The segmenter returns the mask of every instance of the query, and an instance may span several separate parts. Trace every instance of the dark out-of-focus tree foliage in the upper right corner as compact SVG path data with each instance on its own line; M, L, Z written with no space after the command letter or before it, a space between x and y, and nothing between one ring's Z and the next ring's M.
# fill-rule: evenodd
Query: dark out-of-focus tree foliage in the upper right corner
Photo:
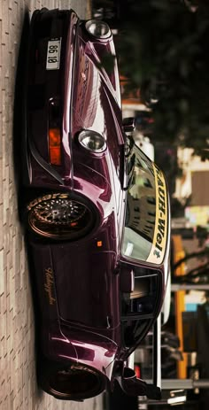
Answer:
M120 23L120 71L152 104L154 135L209 159L209 6L128 1Z

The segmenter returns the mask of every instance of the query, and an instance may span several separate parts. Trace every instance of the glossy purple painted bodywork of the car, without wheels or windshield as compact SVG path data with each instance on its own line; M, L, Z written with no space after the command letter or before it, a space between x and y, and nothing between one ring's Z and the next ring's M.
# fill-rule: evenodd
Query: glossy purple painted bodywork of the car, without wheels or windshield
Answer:
M47 71L50 38L62 39L61 59L58 70ZM128 356L120 326L121 266L130 279L133 275L131 263L120 255L127 191L123 190L126 135L118 68L116 61L111 74L97 67L104 53L114 54L112 35L107 39L90 36L73 11L43 10L33 15L29 49L27 196L31 200L44 192L69 192L88 198L97 210L95 227L78 241L27 237L41 311L40 347L49 363L76 363L97 370L105 387L122 375ZM61 119L60 166L50 165L49 159L53 100L58 102ZM82 129L103 135L107 149L96 154L81 147L77 136ZM158 267L162 286L156 316L165 290L167 257L168 250L165 263ZM146 263L140 265L146 267ZM58 397L45 381L41 385ZM69 396L65 398L85 398Z

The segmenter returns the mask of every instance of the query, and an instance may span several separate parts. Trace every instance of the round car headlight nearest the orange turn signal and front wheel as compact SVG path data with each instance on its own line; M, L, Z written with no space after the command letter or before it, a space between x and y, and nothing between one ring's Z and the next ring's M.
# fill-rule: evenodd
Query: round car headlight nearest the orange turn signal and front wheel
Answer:
M89 129L81 131L78 140L84 148L92 152L103 152L106 149L104 137L96 131Z

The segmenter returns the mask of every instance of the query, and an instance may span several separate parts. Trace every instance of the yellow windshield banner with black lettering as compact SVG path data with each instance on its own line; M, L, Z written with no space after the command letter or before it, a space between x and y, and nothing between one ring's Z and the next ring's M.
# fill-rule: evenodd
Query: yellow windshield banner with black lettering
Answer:
M148 262L160 265L163 262L167 240L167 190L164 174L153 164L156 184L156 220L151 252Z

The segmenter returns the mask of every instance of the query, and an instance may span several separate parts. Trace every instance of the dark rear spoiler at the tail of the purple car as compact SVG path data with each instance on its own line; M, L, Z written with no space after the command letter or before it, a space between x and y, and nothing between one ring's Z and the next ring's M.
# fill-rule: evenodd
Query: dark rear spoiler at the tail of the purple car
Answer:
M128 396L146 396L153 400L160 400L161 391L155 384L145 383L137 379L132 368L124 367L123 375L117 376L116 380L120 383L122 391Z

